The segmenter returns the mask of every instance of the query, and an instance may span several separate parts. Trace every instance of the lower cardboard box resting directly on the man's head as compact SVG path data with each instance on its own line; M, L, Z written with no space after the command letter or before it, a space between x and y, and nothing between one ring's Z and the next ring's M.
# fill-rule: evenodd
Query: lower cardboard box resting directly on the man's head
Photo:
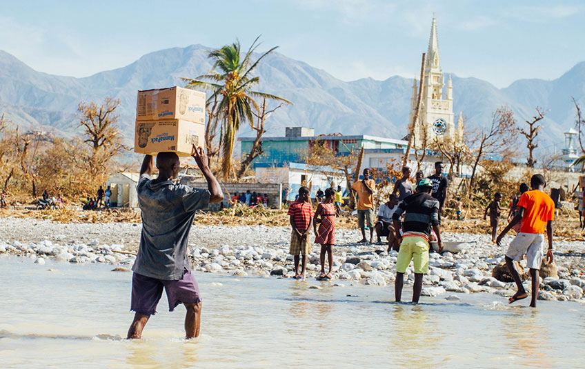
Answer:
M180 119L136 121L134 151L156 155L163 151L190 157L192 145L205 147L205 124Z

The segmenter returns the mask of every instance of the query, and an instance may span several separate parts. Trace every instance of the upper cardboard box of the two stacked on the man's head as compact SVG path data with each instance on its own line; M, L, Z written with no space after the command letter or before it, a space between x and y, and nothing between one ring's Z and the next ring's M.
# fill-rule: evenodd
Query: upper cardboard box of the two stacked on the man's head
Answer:
M177 86L138 91L137 121L168 119L182 119L204 124L205 92Z

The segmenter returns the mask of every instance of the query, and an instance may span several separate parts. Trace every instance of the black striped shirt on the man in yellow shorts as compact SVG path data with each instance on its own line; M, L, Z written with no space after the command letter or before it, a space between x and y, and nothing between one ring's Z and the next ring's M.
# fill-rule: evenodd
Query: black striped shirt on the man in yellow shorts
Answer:
M439 201L426 192L410 195L399 203L392 219L399 220L404 213L402 230L430 235L430 227L439 225Z

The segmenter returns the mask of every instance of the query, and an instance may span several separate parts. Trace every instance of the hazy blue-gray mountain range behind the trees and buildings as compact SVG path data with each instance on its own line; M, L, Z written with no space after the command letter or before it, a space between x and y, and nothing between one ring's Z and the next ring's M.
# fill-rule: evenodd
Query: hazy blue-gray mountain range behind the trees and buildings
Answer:
M63 77L38 72L0 50L0 114L12 124L43 126L58 135L79 132L79 101L117 97L119 124L126 139L133 139L137 90L184 86L181 77L194 78L210 70L210 48L192 45L146 54L134 63L90 77ZM413 61L413 74L418 70ZM394 76L341 81L325 70L273 52L259 64L257 90L277 94L292 106L277 110L268 121L268 136L284 135L286 126L315 128L317 134L370 134L401 138L406 134L413 80ZM585 108L585 62L553 81L522 79L506 88L487 81L451 74L454 112L468 117L468 126L484 126L493 110L507 105L519 125L540 106L548 110L539 135L541 148L562 147L563 132L574 125L575 97ZM250 136L241 128L241 136Z

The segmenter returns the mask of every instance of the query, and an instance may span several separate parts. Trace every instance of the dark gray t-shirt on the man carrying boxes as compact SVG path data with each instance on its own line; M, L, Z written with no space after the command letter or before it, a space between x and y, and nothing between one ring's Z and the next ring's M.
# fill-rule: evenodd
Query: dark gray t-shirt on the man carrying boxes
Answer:
M189 268L187 241L195 210L207 208L210 193L171 181L152 183L142 174L136 186L142 210L140 247L132 270L164 280L183 277Z

